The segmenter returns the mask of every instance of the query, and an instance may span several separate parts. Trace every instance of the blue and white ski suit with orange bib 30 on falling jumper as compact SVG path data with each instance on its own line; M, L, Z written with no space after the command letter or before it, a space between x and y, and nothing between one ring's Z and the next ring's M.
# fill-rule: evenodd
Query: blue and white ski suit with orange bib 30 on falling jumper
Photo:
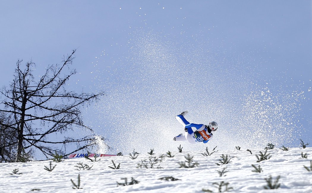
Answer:
M176 136L176 141L185 141L187 140L191 144L203 142L207 143L212 139L211 129L203 124L195 124L189 123L183 115L177 115L176 119L180 122L185 128L187 128L187 132L185 132L185 136ZM192 127L196 128L194 132Z

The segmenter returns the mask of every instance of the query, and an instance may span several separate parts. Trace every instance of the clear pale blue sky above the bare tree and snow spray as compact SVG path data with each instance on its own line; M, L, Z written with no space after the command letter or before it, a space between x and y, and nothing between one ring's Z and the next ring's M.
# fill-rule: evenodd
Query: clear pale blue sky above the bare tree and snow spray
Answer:
M2 85L8 85L13 78L17 59L23 59L24 62L32 60L40 69L48 64L61 63L63 55L77 48L73 67L79 74L75 77L76 80L72 80L69 88L74 90L83 88L91 92L101 89L108 93L112 93L116 88L124 93L129 91L127 90L129 88L137 88L137 93L130 94L128 98L140 99L135 103L120 102L127 100L127 97L120 98L124 93L119 93L119 98L115 98L120 100L119 103L113 103L109 98L93 106L95 109L93 113L96 113L96 116L90 111L86 113L85 118L91 125L96 121L93 120L94 117L103 118L100 123L96 123L96 127L101 128L98 131L101 135L105 135L107 131L117 131L118 125L127 127L127 123L119 122L112 117L129 109L129 106L134 111L141 110L142 106L155 106L157 109L159 107L157 101L155 103L153 100L145 101L150 98L149 94L154 92L155 94L161 92L164 96L156 98L165 101L162 103L164 109L168 109L169 104L179 101L177 98L183 96L184 102L180 100L173 111L163 110L166 116L174 116L179 109L193 108L189 111L196 116L190 118L194 118L193 122L197 122L204 120L204 117L199 115L201 110L198 109L207 108L211 112L223 109L220 114L216 113L213 116L213 113L208 113L207 117L213 117L221 122L227 119L223 122L227 132L237 133L236 129L231 130L232 123L229 122L248 118L238 117L229 120L235 117L236 113L230 109L224 110L227 105L218 106L217 101L223 101L223 104L240 103L238 101L241 100L255 102L257 97L261 98L261 91L264 90L266 94L272 94L272 97L279 99L278 103L281 105L291 104L285 107L288 110L294 108L290 114L295 115L289 117L296 120L290 120L285 113L283 116L270 114L271 121L276 122L275 119L285 117L286 122L296 122L300 119L300 123L295 127L298 127L304 135L296 133L294 138L301 135L301 138L309 140L312 136L310 129L312 96L309 91L312 79L311 10L311 1L2 2L0 80ZM157 52L162 53L164 57L174 58L163 61L158 58L160 54ZM170 54L167 56L168 53ZM147 60L139 59L140 57ZM161 73L163 79L159 78L162 77L158 76L159 74L154 76L153 65L157 68L155 73ZM172 80L162 82L165 77L176 76L174 68L177 68L176 71L183 70L180 77L189 78L188 83ZM189 71L189 74L185 71ZM217 76L220 80L216 78L213 82L208 79L207 82L211 81L209 84L206 82L201 85L200 80L197 80L199 75L211 78ZM178 79L180 77L176 76ZM155 86L153 82L157 81L158 85ZM167 84L172 85L170 88L162 86ZM185 91L178 91L182 87ZM238 87L237 93L234 87ZM213 96L217 96L216 98L208 91L211 89L215 89L212 93ZM207 94L207 99L192 94L202 90ZM297 93L304 91L304 94L287 95L294 90ZM254 94L253 99L242 99L251 93ZM255 96L255 93L260 94ZM187 97L188 94L190 95ZM191 101L192 105L189 105ZM194 109L196 104L193 104L193 101L197 101L198 109ZM206 104L203 101L208 102ZM209 103L218 107L214 109ZM108 108L114 104L127 108ZM251 105L250 102L248 104ZM105 108L103 107L105 105L107 109L114 111L111 115L100 113L104 111L102 108ZM250 110L255 105L245 108ZM272 105L276 103L272 102L261 108L268 106L270 108L263 111L276 110L277 106ZM238 107L234 105L233 108ZM259 106L255 108L261 109ZM227 112L232 116L224 116ZM105 113L108 114L109 111ZM144 116L137 116L134 114L133 121L146 119ZM162 119L167 120L166 116ZM258 117L257 120L261 122L262 119L263 117ZM165 123L170 124L170 119L168 120ZM145 123L137 121L137 123L153 124L153 121ZM284 126L285 122L281 125ZM138 133L145 128L138 127L136 128ZM176 128L178 125L173 127ZM292 128L291 131L293 129L296 128ZM176 132L178 129L172 135ZM287 131L278 130L278 132ZM134 132L132 135L137 137L139 134Z

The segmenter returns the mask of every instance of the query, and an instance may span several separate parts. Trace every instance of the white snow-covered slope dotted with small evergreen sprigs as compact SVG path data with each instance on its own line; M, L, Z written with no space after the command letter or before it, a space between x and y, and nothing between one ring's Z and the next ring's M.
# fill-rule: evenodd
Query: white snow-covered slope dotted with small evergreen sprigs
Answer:
M181 145L183 147L183 145ZM147 152L141 153L137 159L131 159L128 154L124 156L114 156L101 158L98 162L91 162L85 158L65 159L61 163L52 162L56 167L51 172L44 169L49 167L50 161L38 161L27 163L0 163L0 190L1 192L203 192L202 189L209 189L218 192L217 185L220 182L229 183L230 192L312 192L312 172L307 171L304 165L310 168L312 159L312 148L300 149L289 148L283 151L278 148L269 149L267 154L272 156L268 160L257 163L256 155L264 149L250 149L252 154L246 149L218 151L210 155L202 155L206 152L182 152L178 149L171 154L174 157L165 157L155 168L137 168L141 160L149 160ZM209 153L212 149L208 149ZM307 154L308 158L302 158L301 152ZM103 152L101 152L103 153ZM157 149L154 155L158 158L160 155L168 155L166 152L159 153ZM185 162L185 156L193 156L193 163L199 163L194 168L179 168L179 162ZM222 154L231 156L230 163L224 165L219 160ZM119 169L112 169L120 163ZM90 170L77 170L79 163L93 166ZM263 170L261 173L252 172L255 170L251 166L260 165ZM150 166L148 164L148 166ZM160 166L158 169L156 167ZM220 177L218 171L227 167L226 172ZM19 169L19 173L13 174L14 169ZM73 182L77 184L78 174L80 174L80 188L73 189ZM265 178L272 176L272 183L280 176L280 188L275 190L266 190ZM139 181L138 184L117 186L117 182L124 183L127 178L131 182L131 177ZM173 177L179 180L165 181L162 177ZM222 191L225 186L222 187Z

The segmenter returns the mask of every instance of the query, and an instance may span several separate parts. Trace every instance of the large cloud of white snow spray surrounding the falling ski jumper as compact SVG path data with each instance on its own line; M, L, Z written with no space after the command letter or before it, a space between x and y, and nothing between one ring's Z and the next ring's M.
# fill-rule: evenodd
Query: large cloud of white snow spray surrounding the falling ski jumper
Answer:
M158 146L159 151L168 150L171 144L167 141L172 142L172 136L183 129L174 119L175 113L179 113L181 107L194 109L190 113L190 120L204 123L207 119L214 119L220 122L224 131L235 133L235 139L227 132L216 133L215 138L222 140L215 140L213 145L222 146L223 149L232 148L233 143L241 141L244 141L245 147L261 147L268 142L285 145L291 138L296 137L294 128L299 127L302 131L300 123L295 123L291 128L288 126L294 120L296 122L299 120L298 113L292 113L300 111L300 105L293 103L299 96L290 95L282 87L276 87L270 81L265 81L263 76L261 82L254 80L252 74L246 76L248 71L245 71L244 65L229 70L228 64L232 64L230 61L232 58L213 54L213 50L202 49L196 43L190 46L183 42L183 39L168 42L167 36L170 37L170 34L145 32L135 34L134 39L127 41L128 44L132 44L125 61L125 65L129 66L124 70L113 70L112 77L107 77L109 81L105 83L108 83L111 90L110 98L100 101L99 105L95 106L95 112L96 119L103 120L99 123L110 125L110 130L113 131L109 132L113 133L110 136L112 148L120 148L118 140L122 140L124 148L122 151L131 151L127 148L137 147L137 141L131 139L139 139L142 131L149 130L152 132L146 134L147 137L155 140L149 143L140 141L140 150L148 151L149 145ZM193 38L197 37L198 35L194 35ZM117 56L114 56L114 59L116 62L117 59L122 61ZM196 68L193 68L194 66ZM218 71L219 76L210 79L211 70ZM204 76L201 78L188 76L190 73L198 72L202 72ZM236 77L236 80L241 81L233 81L230 77ZM110 81L114 78L117 84ZM287 87L286 80L285 83L284 87ZM99 86L104 85L107 86L107 84ZM192 92L185 95L188 88L192 89L194 94ZM207 98L195 94L198 90L216 90L216 92ZM159 94L160 92L162 94ZM162 120L161 123L159 119ZM167 131L163 125L172 125L172 131ZM119 131L120 126L127 131L127 135L115 132ZM118 137L114 136L114 133L118 134ZM115 138L118 140L114 140ZM163 143L164 141L166 143ZM192 148L198 147L188 146L188 149Z

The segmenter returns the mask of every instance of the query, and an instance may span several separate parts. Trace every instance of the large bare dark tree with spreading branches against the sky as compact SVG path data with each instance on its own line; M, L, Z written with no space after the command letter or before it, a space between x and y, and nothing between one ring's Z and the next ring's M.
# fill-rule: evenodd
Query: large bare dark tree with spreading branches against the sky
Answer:
M72 152L58 153L69 155L80 149L95 144L94 136L68 137L63 140L51 140L52 134L77 131L77 129L91 128L85 126L82 120L82 107L103 96L104 93L77 94L66 88L66 82L76 74L70 65L74 59L76 50L64 57L62 65L49 65L43 76L36 80L32 73L35 63L27 62L22 69L22 61L17 62L14 80L9 87L1 90L2 106L0 112L12 117L11 122L2 122L3 128L16 132L15 141L16 161L22 158L22 152L26 149L39 149L47 158L57 150L56 144L63 147L72 144L76 149Z

